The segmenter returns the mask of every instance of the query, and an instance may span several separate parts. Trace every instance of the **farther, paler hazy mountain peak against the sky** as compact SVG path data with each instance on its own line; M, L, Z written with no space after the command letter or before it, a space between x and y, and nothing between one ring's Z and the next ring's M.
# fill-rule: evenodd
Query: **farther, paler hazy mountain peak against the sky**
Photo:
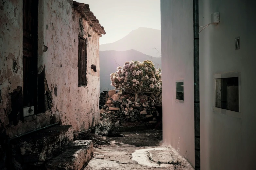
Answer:
M134 49L153 57L159 57L157 50L154 48L161 52L161 30L144 27L131 31L118 41L100 45L101 51L126 51Z

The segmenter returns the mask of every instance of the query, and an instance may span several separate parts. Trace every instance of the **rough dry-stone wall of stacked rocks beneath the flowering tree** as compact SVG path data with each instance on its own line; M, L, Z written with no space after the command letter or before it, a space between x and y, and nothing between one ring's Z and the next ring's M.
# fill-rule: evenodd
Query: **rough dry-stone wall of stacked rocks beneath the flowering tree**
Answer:
M153 94L138 95L137 101L134 101L135 97L131 94L116 93L115 90L110 90L106 97L107 95L107 102L100 113L106 113L106 117L112 122L157 122L159 114L154 107L156 96Z

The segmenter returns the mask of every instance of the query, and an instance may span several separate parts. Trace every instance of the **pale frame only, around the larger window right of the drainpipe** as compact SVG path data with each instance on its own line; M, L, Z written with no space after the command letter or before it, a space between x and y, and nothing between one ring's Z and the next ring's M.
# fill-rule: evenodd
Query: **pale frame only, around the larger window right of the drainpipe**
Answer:
M238 112L215 107L216 106L216 81L215 81L215 79L232 78L232 77L238 77L238 107L239 107ZM235 117L235 118L241 118L241 74L240 74L240 72L227 72L227 73L213 74L213 112L224 114L224 115Z

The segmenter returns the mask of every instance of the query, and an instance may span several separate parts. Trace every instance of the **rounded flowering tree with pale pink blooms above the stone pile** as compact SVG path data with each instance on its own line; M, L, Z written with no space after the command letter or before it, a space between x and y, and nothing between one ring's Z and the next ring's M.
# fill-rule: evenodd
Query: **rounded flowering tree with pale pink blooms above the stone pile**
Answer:
M152 61L125 62L116 69L118 71L110 75L111 86L135 94L135 101L140 93L160 94L162 91L161 69L156 69Z

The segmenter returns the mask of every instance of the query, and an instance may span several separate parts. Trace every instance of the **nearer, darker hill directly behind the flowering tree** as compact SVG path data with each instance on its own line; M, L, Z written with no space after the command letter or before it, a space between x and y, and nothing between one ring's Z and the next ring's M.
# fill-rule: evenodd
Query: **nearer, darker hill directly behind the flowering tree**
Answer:
M137 50L100 51L100 92L113 89L110 85L110 74L117 71L116 67L123 66L126 61L131 60L143 62L149 60L149 57ZM152 61L159 64L158 68L162 68L161 57L152 57ZM157 67L156 64L155 66Z

